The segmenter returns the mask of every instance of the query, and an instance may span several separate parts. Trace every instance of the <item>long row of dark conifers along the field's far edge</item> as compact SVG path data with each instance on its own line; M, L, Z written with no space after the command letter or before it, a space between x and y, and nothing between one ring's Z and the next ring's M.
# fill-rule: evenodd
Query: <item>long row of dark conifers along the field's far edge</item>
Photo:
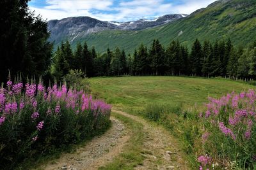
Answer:
M164 48L154 39L150 48L141 44L132 54L116 47L105 53L88 48L86 42L77 44L72 52L70 43L61 43L54 54L52 74L59 80L70 69L93 76L228 76L230 78L256 78L256 42L249 48L235 47L232 41L200 42L195 40L191 49L179 41Z

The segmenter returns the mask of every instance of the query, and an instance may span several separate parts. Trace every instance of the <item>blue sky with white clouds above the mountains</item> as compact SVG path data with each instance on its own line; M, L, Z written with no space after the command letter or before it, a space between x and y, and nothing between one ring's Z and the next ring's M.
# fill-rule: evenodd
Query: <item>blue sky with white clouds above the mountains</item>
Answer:
M216 0L31 0L29 8L46 20L88 16L126 22L166 14L190 14Z

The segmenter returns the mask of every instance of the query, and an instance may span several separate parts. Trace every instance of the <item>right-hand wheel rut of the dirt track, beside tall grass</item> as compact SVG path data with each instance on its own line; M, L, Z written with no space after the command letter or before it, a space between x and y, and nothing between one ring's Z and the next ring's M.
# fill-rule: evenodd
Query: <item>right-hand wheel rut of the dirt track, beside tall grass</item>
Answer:
M145 160L143 165L134 169L190 169L188 162L184 159L184 155L179 149L179 144L166 129L150 124L143 118L123 111L112 111L143 125L146 139L141 154L143 154Z

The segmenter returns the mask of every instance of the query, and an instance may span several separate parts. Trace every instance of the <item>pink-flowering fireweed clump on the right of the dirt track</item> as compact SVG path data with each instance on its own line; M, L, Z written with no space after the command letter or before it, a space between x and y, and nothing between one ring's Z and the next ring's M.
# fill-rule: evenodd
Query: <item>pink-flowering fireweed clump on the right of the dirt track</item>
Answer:
M204 147L198 161L202 166L217 162L230 169L256 168L255 99L255 90L210 98L207 110L200 113Z

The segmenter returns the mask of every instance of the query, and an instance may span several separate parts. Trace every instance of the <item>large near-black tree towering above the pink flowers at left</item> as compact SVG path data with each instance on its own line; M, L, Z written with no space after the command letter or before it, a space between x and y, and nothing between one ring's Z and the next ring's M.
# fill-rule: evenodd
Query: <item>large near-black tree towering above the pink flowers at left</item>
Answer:
M35 17L28 1L0 1L0 82L11 74L44 76L51 64L47 22Z

